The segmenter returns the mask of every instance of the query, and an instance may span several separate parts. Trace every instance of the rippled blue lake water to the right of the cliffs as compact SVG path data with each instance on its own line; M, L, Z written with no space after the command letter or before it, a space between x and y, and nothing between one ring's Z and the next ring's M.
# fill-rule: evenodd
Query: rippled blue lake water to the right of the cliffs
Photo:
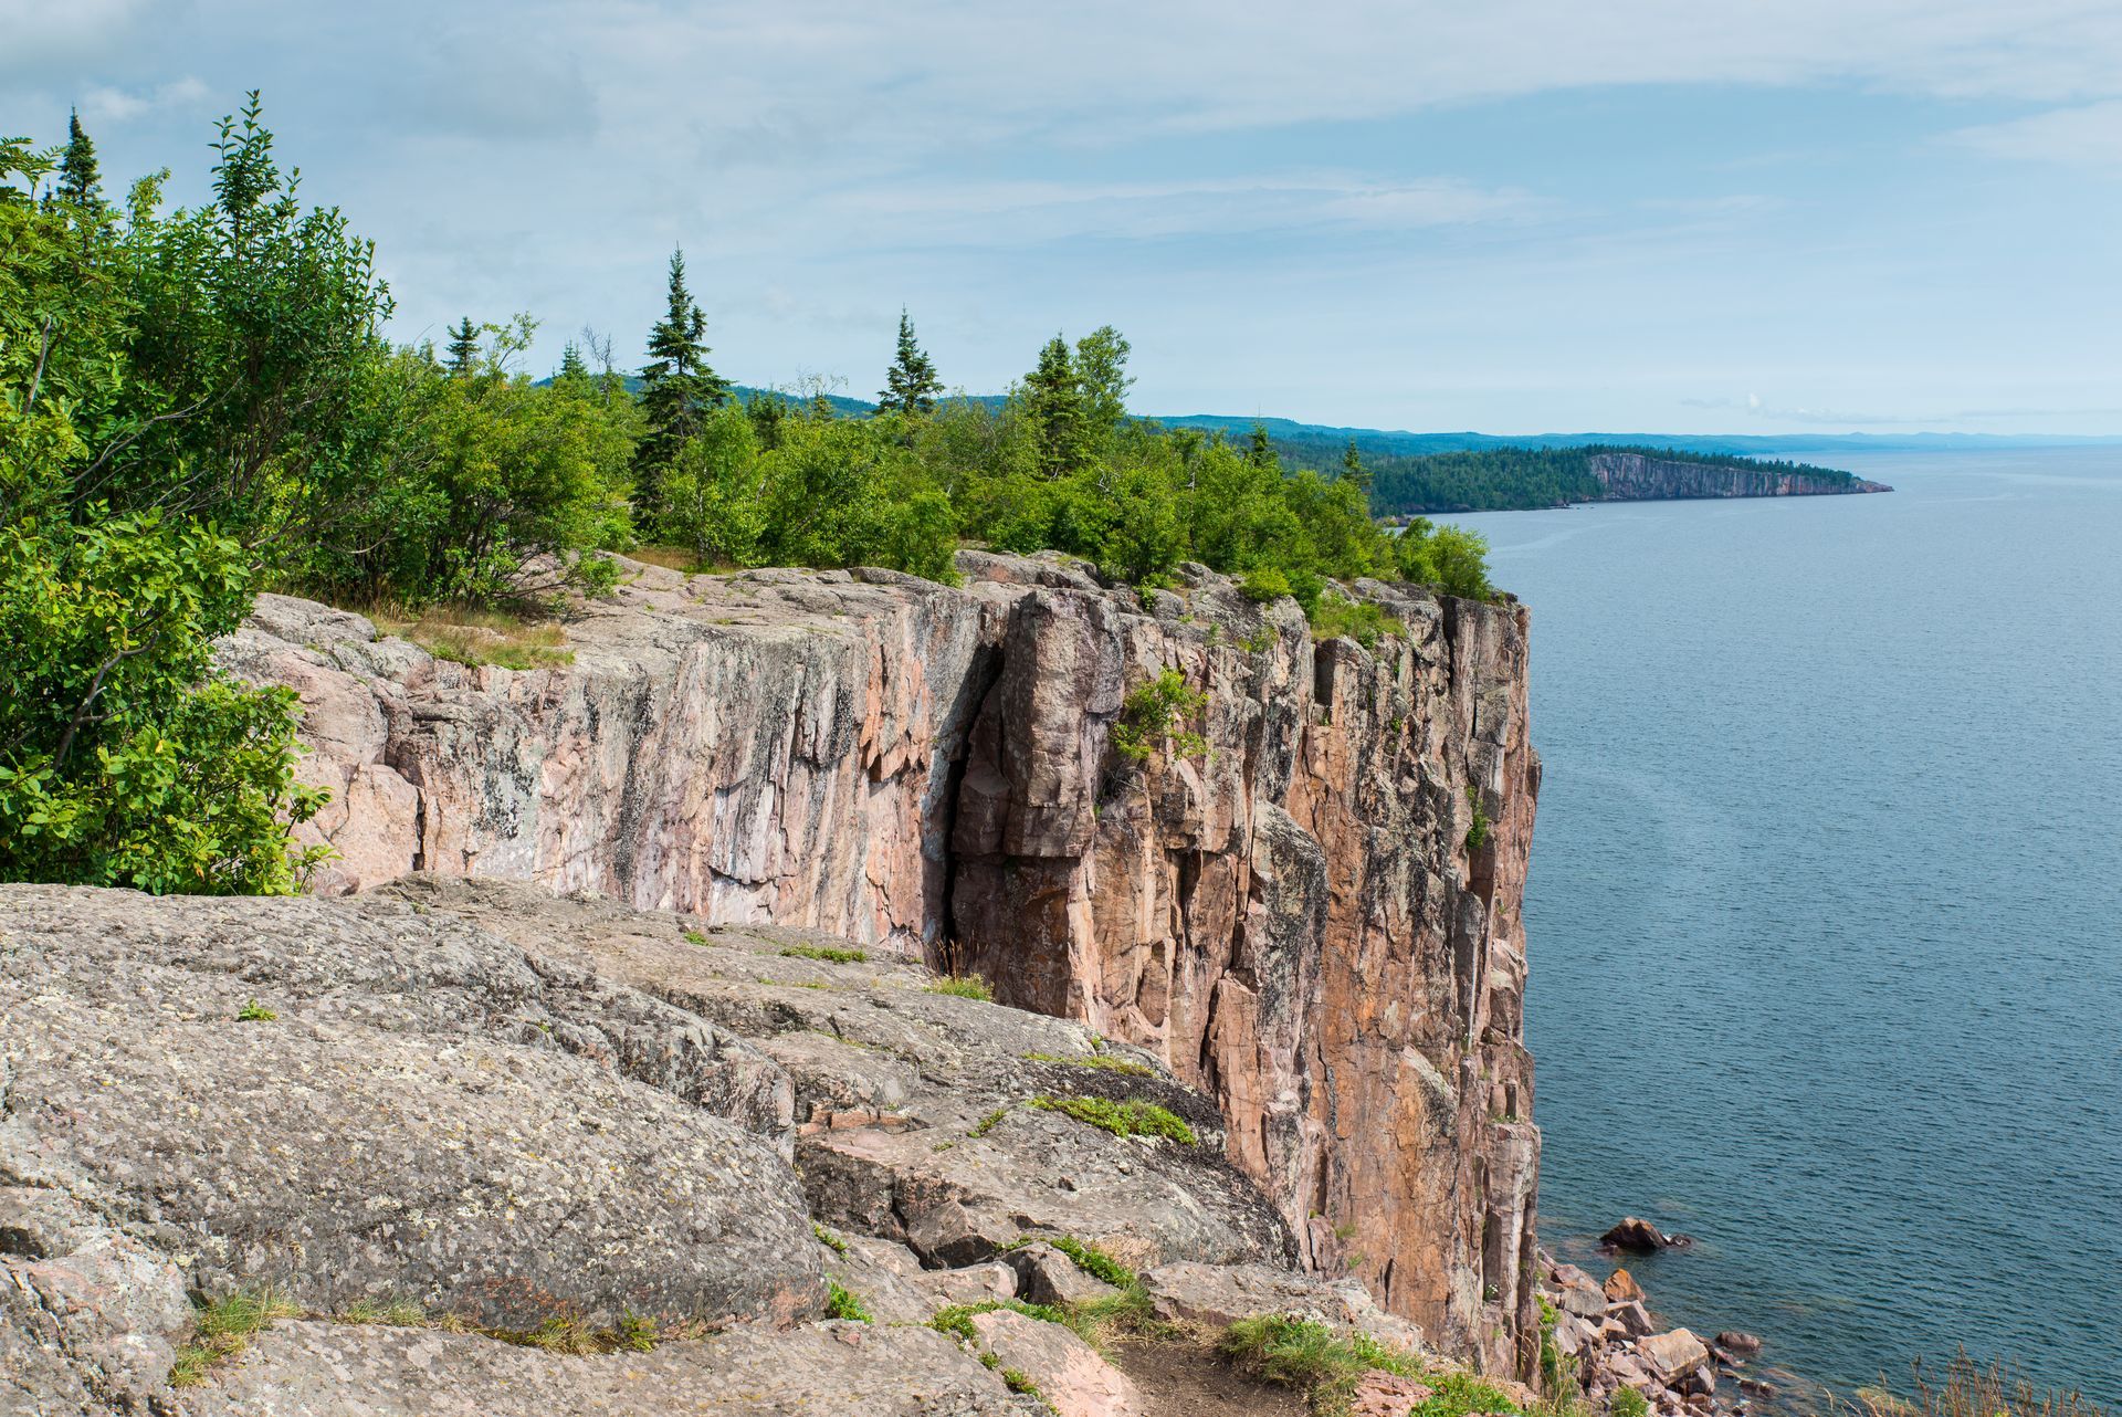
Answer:
M2122 1404L2122 450L1816 460L1899 490L1454 518L1532 605L1543 1239Z

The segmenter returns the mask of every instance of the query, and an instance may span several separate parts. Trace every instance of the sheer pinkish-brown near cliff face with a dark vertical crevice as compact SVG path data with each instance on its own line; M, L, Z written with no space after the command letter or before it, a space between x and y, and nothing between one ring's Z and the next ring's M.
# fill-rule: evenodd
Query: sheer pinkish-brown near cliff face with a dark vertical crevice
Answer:
M1207 1092L1305 1264L1530 1372L1526 613L1364 583L1407 624L1364 651L1205 571L1144 609L961 568L641 568L535 672L267 598L223 658L310 704L320 889L522 878L980 972ZM1135 762L1114 728L1167 668L1205 751Z

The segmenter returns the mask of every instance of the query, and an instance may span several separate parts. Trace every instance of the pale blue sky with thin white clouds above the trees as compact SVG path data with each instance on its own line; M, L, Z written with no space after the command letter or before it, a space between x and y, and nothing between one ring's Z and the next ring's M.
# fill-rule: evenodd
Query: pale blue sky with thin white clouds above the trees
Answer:
M261 89L390 333L1148 414L2122 433L2122 0L0 0L0 129L206 189Z

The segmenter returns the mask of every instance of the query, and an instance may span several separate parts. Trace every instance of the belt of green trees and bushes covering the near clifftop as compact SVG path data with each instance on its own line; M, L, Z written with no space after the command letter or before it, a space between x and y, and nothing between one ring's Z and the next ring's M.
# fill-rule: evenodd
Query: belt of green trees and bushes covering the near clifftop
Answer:
M1362 477L1133 418L1112 327L1055 335L1004 399L944 399L902 318L851 418L736 397L673 252L641 274L666 295L643 358L586 333L535 380L528 314L384 337L373 246L297 195L257 95L212 153L210 202L170 210L163 176L112 199L79 119L49 151L0 138L0 878L299 882L286 825L320 793L293 776L293 696L210 658L259 588L520 617L607 594L607 552L955 579L985 543L1140 588L1207 562L1358 638L1392 626L1337 579L1492 594L1477 537L1386 535Z

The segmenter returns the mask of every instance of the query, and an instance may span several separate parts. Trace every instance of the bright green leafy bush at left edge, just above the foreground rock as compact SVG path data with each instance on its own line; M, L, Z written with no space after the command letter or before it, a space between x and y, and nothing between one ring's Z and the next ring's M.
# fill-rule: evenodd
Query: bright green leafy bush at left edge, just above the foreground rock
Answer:
M293 891L295 696L221 677L250 605L242 549L129 513L0 530L0 878L155 893Z

